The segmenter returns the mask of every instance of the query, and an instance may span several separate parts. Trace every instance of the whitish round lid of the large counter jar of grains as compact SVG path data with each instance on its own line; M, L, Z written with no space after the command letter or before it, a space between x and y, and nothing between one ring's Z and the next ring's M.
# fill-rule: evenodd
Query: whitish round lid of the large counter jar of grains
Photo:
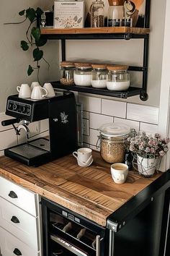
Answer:
M125 124L107 123L99 127L99 132L107 137L128 137L130 127Z

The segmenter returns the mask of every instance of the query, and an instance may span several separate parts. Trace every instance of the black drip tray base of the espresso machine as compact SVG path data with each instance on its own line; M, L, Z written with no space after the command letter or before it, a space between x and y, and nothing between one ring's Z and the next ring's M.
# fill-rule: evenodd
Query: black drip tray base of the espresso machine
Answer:
M4 151L6 156L27 164L39 166L50 160L49 140L40 138L22 145L8 148Z

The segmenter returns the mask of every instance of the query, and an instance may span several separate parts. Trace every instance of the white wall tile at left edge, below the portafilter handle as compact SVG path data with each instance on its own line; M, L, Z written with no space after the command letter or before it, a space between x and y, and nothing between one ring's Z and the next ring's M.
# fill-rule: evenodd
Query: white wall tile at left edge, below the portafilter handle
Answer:
M17 145L17 135L14 129L9 129L4 132L0 132L0 150Z

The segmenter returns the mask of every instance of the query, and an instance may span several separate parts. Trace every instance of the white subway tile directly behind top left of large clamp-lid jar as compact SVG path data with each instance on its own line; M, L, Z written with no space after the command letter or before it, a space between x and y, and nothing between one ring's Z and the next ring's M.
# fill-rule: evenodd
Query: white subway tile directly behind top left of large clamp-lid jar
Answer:
M104 116L101 114L89 113L89 128L99 129L102 124L112 123L112 116Z

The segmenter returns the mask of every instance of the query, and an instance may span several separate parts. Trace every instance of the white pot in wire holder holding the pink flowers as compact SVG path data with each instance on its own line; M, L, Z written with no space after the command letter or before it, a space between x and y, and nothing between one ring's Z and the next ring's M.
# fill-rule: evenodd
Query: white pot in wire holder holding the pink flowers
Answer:
M138 172L142 176L150 177L156 171L156 158L143 158L140 155L137 155L137 163L138 163Z

